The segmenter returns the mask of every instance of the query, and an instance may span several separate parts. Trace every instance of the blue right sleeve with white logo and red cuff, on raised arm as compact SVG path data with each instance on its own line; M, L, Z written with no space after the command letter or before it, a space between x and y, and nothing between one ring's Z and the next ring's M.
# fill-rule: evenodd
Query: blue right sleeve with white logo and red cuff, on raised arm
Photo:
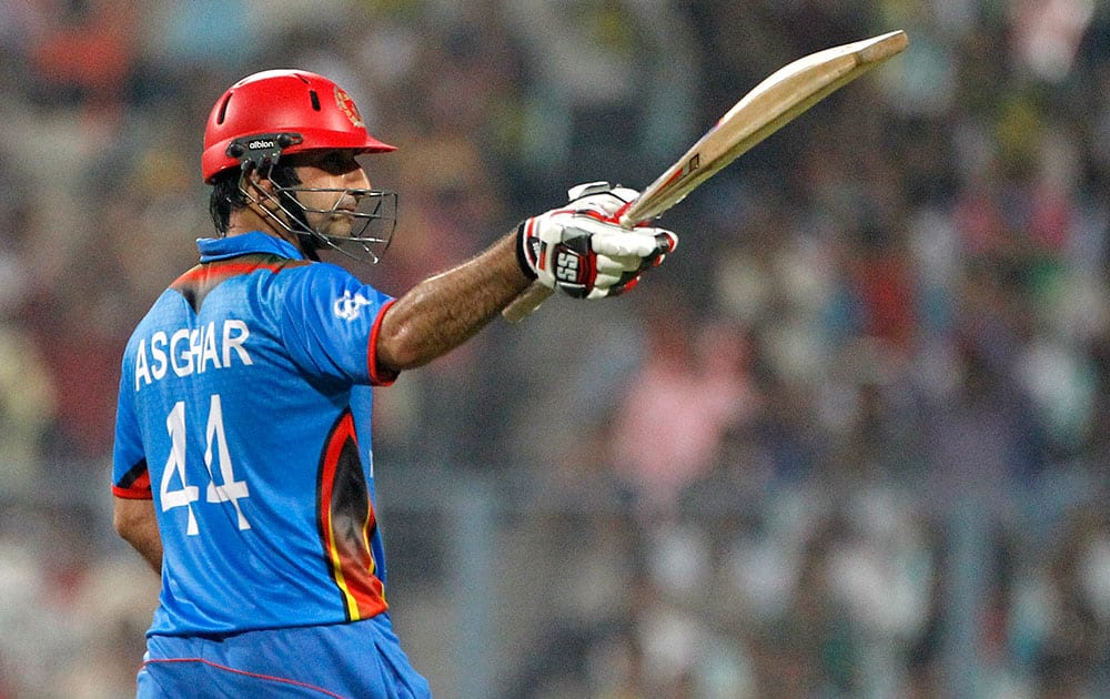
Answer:
M305 373L352 384L387 385L376 366L377 330L393 297L341 267L314 264L291 281L282 340Z

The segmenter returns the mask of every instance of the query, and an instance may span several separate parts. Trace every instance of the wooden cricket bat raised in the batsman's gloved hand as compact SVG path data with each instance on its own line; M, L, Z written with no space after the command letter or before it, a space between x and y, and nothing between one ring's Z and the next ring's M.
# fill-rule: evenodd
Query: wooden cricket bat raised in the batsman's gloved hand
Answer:
M619 214L632 229L655 219L696 186L720 172L817 102L909 45L904 31L810 53L778 69L740 98L675 164ZM660 251L668 252L668 251ZM534 283L503 312L516 323L535 311L553 290Z

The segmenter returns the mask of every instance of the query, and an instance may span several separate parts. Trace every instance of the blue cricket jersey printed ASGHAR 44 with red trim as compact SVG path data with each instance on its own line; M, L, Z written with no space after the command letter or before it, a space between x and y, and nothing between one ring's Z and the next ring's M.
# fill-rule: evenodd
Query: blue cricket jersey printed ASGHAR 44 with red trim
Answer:
M261 232L198 246L120 382L112 490L153 498L164 548L149 632L379 615L370 407L394 378L373 350L392 298Z

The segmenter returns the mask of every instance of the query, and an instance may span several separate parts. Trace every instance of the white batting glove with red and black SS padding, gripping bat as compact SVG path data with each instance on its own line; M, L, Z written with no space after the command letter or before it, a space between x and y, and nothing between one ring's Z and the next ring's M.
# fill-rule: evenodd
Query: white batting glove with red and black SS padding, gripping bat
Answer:
M575 298L616 296L639 282L678 244L670 231L620 226L620 214L639 195L606 182L578 185L569 203L521 224L521 269L548 288Z

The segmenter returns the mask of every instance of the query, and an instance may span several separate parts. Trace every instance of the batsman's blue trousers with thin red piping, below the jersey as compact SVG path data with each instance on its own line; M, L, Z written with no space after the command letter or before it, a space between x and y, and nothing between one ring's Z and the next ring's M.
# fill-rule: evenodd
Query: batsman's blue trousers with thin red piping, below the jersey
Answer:
M231 636L150 636L139 699L426 699L389 617Z

